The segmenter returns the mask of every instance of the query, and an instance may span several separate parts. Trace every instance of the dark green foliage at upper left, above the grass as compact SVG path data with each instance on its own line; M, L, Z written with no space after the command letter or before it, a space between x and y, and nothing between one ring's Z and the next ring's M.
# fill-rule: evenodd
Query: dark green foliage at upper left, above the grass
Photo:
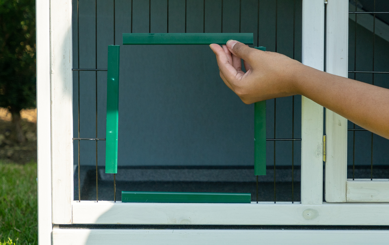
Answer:
M0 0L0 107L35 107L35 0Z

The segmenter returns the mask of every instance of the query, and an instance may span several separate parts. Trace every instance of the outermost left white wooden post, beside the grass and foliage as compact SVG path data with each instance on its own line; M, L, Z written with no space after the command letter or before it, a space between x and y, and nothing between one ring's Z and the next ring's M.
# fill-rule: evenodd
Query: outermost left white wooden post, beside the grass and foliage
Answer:
M50 130L50 9L49 0L36 1L37 23L37 146L38 243L51 244Z

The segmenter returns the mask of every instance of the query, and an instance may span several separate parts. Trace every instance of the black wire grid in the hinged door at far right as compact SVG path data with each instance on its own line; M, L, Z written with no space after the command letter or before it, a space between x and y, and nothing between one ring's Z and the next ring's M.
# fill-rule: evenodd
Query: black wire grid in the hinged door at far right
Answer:
M368 73L372 75L372 84L374 85L374 75L375 74L389 74L389 71L375 71L374 70L374 54L375 54L375 20L376 20L376 14L389 14L389 12L377 12L375 11L375 1L373 0L373 12L364 12L364 11L357 11L357 3L355 2L355 11L349 11L350 14L355 15L355 26L354 26L354 71L349 71L349 73L354 74L354 80L356 80L357 73ZM373 64L372 64L372 70L371 71L357 71L357 17L358 14L371 14L373 15ZM352 28L350 26L350 28ZM368 131L366 129L357 129L356 124L353 123L352 129L347 129L348 131L352 131L352 180L355 180L355 132L356 131ZM374 134L371 133L371 154L370 154L370 180L373 180L373 136Z

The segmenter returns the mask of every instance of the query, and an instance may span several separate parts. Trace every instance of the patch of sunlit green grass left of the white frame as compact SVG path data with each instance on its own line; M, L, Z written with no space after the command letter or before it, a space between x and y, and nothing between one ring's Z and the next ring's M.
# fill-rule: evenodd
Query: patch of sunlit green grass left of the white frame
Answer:
M0 161L0 245L37 244L37 163Z

